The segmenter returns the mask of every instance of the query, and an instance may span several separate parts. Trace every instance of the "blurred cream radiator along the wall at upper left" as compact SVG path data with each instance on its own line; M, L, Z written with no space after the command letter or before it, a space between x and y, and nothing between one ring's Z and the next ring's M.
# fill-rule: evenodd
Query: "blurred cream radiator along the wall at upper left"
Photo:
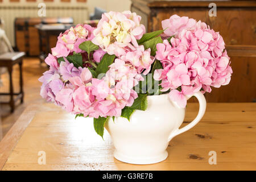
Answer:
M5 20L5 31L12 46L15 46L14 40L14 19L26 17L38 17L38 5L22 6L22 5L1 5L0 17ZM88 19L88 7L85 5L70 6L46 6L46 17L72 17L74 23L83 23Z

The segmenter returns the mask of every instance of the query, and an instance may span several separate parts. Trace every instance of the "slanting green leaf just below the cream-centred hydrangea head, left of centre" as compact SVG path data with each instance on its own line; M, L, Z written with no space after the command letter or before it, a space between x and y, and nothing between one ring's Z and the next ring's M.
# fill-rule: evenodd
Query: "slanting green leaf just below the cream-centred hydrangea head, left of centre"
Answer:
M95 70L97 76L100 73L106 73L109 70L109 65L113 63L114 59L115 55L109 55L108 53L105 53Z

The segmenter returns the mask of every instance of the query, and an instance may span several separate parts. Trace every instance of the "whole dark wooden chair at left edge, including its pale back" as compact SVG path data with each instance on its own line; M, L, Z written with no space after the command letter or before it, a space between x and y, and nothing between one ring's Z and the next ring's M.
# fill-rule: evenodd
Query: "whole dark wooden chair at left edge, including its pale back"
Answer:
M1 21L0 25L3 24ZM0 102L0 104L9 104L11 107L11 113L13 113L15 109L15 101L20 99L20 102L23 103L24 98L24 92L23 92L23 77L22 77L22 60L25 56L24 52L14 52L13 48L11 47L11 44L9 40L7 39L7 36L5 34L5 31L0 27L0 73L2 72L1 68L7 68L7 71L9 72L9 81L10 81L10 89L9 93L0 93L0 96L10 96L9 102ZM15 64L19 64L19 72L20 72L20 91L19 93L14 93L13 88L13 66ZM14 99L14 96L17 96Z

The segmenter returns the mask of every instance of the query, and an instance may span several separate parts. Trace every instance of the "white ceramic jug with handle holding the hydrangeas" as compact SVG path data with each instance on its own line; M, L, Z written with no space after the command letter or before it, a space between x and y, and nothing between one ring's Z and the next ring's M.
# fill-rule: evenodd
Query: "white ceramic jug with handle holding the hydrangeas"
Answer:
M123 117L116 117L114 122L109 119L105 128L113 139L114 157L131 164L152 164L165 160L170 140L195 126L205 113L204 95L197 92L193 96L199 100L199 113L182 129L179 127L184 120L185 109L172 102L168 94L147 96L146 111L135 110L130 122Z

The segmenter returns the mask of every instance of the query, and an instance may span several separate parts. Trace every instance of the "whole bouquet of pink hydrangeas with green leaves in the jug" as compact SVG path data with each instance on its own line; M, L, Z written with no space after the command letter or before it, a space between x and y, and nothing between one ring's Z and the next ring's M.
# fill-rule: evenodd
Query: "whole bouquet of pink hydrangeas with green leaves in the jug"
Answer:
M185 107L186 95L229 83L224 40L207 24L172 15L163 30L145 33L140 21L136 13L110 11L97 28L77 24L60 34L39 78L41 96L76 117L93 117L102 136L109 117L129 120L146 110L147 96L168 94Z

